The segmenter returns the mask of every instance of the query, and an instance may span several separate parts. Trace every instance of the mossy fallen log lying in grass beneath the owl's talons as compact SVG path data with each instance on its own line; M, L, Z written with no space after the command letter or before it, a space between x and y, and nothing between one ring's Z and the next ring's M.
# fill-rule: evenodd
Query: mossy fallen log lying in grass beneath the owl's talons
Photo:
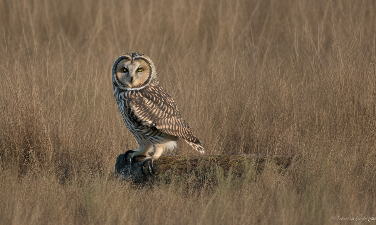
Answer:
M129 162L129 154L127 162ZM124 154L120 154L115 163L115 172L124 179L131 179L134 183L148 183L157 177L186 176L193 172L197 178L205 180L209 170L221 168L224 172L231 170L233 174L241 176L246 165L254 167L261 173L265 163L271 163L274 167L285 171L291 163L288 156L261 156L248 154L218 154L206 156L182 157L178 155L164 155L158 158L154 165L155 175L145 176L141 172L141 164L144 157L136 157L133 165L124 163ZM149 165L146 163L146 165ZM147 166L144 171L148 173Z

